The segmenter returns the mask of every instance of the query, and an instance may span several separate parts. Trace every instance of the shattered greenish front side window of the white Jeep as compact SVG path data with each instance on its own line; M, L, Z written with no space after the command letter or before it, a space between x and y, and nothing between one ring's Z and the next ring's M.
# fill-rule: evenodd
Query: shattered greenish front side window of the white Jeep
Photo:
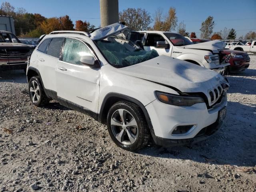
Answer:
M90 49L83 42L77 39L66 38L62 53L62 61L82 65L80 58L86 55L93 56Z

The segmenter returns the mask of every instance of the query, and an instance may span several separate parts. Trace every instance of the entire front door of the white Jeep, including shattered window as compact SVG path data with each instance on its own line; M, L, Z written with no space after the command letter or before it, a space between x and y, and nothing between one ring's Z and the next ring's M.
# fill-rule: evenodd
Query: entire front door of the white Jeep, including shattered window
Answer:
M61 104L98 113L100 69L82 64L80 58L85 55L94 56L81 40L66 38L55 69L57 95Z

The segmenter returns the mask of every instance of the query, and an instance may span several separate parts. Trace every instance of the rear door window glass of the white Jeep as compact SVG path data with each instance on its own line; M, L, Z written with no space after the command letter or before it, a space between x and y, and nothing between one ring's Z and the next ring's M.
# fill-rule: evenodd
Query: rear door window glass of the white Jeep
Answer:
M60 58L64 38L52 38L46 54Z

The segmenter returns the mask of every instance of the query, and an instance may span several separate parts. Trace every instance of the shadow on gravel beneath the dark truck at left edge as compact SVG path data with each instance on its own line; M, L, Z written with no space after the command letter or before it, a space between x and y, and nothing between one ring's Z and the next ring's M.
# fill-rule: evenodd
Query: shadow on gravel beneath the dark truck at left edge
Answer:
M27 83L23 70L0 70L0 82Z

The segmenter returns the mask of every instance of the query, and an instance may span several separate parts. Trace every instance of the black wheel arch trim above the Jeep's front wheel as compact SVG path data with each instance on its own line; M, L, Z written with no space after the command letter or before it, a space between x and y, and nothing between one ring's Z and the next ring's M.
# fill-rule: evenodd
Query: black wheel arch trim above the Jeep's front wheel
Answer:
M108 110L110 109L110 107L113 104L115 104L118 101L122 101L122 100L133 102L141 108L141 110L146 118L148 128L150 129L150 132L153 136L154 129L153 129L148 111L146 110L145 106L139 100L132 98L130 96L123 95L123 94L111 92L105 96L105 98L103 99L102 104L101 104L100 113L98 114L98 121L101 122L102 124L106 124Z

